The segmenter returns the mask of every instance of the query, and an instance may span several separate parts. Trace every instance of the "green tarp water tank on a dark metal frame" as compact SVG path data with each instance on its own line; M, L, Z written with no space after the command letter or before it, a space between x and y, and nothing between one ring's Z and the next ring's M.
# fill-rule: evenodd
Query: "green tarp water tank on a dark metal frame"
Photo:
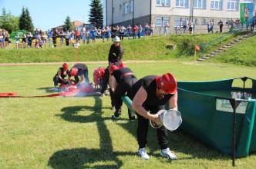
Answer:
M243 88L232 87L234 80L242 81L179 81L178 105L183 118L180 130L217 151L232 154L234 110L230 100L237 101L235 156L246 157L256 152L256 81L248 78L244 84L251 83L251 88Z

